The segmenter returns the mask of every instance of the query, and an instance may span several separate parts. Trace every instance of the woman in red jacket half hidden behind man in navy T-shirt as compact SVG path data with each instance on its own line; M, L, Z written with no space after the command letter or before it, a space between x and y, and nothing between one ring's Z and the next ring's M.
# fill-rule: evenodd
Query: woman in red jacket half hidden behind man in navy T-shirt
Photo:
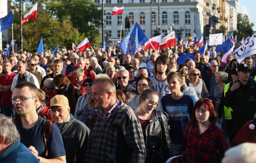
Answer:
M52 115L52 111L51 109L48 109L48 107L46 107L44 100L45 100L45 93L44 91L42 91L41 89L38 89L38 98L39 98L39 102L36 104L37 107L37 114L46 119L46 120L50 120L53 121L53 115Z

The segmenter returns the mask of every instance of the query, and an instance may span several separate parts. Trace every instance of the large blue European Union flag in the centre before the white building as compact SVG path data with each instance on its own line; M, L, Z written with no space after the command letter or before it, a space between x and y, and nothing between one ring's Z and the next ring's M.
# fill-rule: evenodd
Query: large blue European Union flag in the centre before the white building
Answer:
M128 35L120 43L120 47L125 54L133 55L148 40L138 23L136 23Z

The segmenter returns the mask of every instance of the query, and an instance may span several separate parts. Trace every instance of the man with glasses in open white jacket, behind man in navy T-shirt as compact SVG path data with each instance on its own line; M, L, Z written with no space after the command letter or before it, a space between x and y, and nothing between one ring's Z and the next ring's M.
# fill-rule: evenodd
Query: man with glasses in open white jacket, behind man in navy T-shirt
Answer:
M11 87L12 92L14 91L15 86L22 82L30 82L30 83L33 83L38 88L40 88L37 78L32 73L26 71L26 67L27 67L26 61L18 60L16 65L18 75L16 75L13 78L12 87Z

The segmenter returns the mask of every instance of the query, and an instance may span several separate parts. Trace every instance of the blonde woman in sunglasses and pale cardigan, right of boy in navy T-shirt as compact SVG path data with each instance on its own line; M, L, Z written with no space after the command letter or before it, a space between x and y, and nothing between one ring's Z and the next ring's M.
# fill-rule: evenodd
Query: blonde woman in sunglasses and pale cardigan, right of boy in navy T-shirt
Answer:
M196 91L199 99L209 96L209 92L207 91L204 81L199 78L200 75L201 72L199 69L191 68L188 71L189 79L186 80L187 86L193 88Z

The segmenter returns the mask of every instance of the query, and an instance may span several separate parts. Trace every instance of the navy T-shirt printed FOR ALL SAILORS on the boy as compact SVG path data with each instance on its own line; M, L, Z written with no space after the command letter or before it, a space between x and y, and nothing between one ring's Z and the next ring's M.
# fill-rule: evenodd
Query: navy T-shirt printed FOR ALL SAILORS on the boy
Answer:
M173 99L171 94L161 98L163 111L169 115L170 137L172 143L181 145L185 127L191 117L191 112L196 102L195 97L185 94L180 99Z

